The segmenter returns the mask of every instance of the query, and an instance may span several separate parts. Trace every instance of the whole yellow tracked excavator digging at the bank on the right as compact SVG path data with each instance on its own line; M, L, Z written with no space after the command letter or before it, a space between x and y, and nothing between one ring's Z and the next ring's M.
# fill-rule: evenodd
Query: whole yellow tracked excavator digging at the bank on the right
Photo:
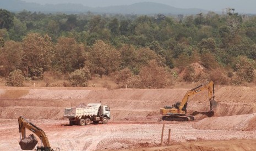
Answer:
M209 102L210 102L210 112L214 113L214 108L217 106L217 102L214 100L214 82L212 80L201 84L189 91L187 91L186 95L183 97L181 102L177 102L172 106L165 106L164 108L160 108L160 114L164 115L162 120L174 120L174 121L190 121L195 120L192 115L187 114L187 101L189 97L197 94L203 90L208 90Z

